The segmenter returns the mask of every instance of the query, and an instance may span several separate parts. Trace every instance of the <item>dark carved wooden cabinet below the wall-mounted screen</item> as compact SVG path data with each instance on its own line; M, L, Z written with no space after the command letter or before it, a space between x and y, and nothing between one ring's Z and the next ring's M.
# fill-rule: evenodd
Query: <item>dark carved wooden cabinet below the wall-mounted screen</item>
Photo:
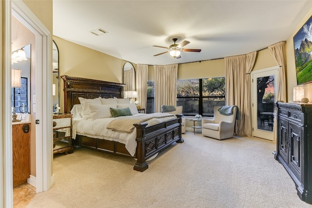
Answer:
M276 107L274 158L292 177L300 199L312 204L312 104L277 102Z

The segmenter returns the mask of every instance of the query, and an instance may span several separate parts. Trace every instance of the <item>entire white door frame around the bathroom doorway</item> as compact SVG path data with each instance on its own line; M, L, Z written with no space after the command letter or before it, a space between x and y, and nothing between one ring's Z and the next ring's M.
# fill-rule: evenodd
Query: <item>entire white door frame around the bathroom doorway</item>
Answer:
M12 114L11 114L11 15L15 16L36 37L36 176L31 177L36 191L51 188L54 180L52 173L52 39L50 31L39 21L22 0L2 1L3 5L3 84L1 94L2 128L5 130L3 146L0 146L3 159L3 182L0 193L0 207L13 207L13 170L12 170ZM2 184L2 183L1 183Z

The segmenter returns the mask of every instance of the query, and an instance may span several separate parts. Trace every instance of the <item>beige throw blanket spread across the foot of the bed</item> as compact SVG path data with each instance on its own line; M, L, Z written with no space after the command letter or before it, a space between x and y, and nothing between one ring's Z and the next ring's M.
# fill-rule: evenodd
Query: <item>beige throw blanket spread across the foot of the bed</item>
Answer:
M131 133L134 128L136 128L133 124L144 122L147 120L150 120L152 118L164 118L173 116L173 114L170 113L153 113L153 114L142 114L137 115L135 117L122 117L112 120L108 125L107 129L111 129L113 131L117 132L127 132Z

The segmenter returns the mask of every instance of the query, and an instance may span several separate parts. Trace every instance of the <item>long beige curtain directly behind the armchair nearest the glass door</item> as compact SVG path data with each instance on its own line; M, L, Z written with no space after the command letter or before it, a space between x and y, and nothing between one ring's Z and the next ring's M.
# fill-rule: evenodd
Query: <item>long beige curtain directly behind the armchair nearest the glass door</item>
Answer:
M225 57L226 105L236 105L240 111L240 120L236 120L234 133L245 136L245 77L246 55Z

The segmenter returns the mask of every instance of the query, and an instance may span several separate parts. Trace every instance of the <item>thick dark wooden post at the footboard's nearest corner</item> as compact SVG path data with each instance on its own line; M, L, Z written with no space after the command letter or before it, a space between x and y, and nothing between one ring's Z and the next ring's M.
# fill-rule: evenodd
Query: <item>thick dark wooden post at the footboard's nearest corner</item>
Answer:
M147 123L137 123L134 126L137 128L137 163L133 170L143 172L148 169L148 164L145 161L145 127Z

